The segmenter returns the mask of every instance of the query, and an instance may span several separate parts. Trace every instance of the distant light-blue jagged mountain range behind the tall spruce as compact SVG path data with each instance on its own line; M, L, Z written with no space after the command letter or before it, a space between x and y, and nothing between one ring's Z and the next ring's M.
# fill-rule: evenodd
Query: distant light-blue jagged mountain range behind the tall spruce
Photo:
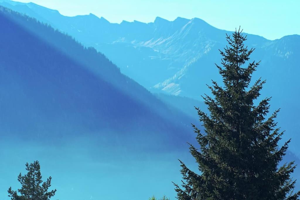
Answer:
M225 34L231 32L214 28L201 19L178 17L168 21L157 17L147 24L114 24L93 14L62 16L56 10L33 3L2 0L0 4L48 23L85 46L95 47L117 64L122 73L152 92L200 100L200 95L210 94L205 84L210 85L211 79L222 81L214 63L220 64L218 49L226 46ZM300 124L300 68L296 62L300 36L267 40L248 34L247 38L246 45L255 48L251 61L261 60L253 82L259 77L267 80L261 99L272 96L271 109L281 108L278 124L286 130L285 140L293 138L291 149L300 156L296 145L300 136L295 126Z

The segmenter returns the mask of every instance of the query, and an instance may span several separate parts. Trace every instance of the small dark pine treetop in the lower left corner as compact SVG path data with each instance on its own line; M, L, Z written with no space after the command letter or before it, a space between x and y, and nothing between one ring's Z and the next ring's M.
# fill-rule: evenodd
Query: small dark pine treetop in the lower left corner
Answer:
M51 186L51 176L43 183L38 161L31 164L26 163L26 170L28 171L27 175L22 176L20 173L18 176L18 181L22 185L22 188L18 189L21 195L11 190L11 187L8 189L8 196L11 197L11 200L49 200L55 195L56 189L48 192Z

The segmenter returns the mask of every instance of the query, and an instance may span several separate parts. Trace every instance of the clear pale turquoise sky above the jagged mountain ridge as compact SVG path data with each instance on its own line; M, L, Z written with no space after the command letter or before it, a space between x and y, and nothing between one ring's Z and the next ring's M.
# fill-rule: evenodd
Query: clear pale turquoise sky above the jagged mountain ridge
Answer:
M18 1L18 0L15 0ZM300 34L300 0L19 0L58 10L66 16L93 13L110 22L153 22L156 16L174 20L198 17L216 28L278 39Z

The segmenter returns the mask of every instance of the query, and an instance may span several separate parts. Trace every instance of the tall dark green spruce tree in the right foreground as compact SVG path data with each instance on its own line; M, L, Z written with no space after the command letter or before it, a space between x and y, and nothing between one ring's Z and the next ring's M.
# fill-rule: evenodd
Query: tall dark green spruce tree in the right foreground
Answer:
M281 148L277 143L283 132L276 127L276 110L268 118L269 100L258 105L253 100L265 81L258 79L249 88L252 73L259 62L249 62L254 49L247 49L240 29L226 34L228 46L222 55L219 73L223 76L221 87L212 81L208 86L214 98L205 95L204 102L210 115L196 108L205 133L192 124L200 148L190 144L190 153L198 163L201 175L180 161L183 175L182 188L176 186L177 198L200 199L298 199L294 193L295 181L290 174L294 162L278 168L288 148L288 140Z

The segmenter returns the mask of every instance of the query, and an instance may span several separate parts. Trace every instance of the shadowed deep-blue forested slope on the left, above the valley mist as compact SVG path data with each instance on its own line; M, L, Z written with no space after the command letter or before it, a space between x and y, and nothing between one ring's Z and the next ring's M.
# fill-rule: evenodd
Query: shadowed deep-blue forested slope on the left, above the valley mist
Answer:
M180 111L124 76L95 49L35 19L4 7L0 11L3 128L27 116L26 127L43 118L75 120L94 130L173 132L175 139L187 127Z

